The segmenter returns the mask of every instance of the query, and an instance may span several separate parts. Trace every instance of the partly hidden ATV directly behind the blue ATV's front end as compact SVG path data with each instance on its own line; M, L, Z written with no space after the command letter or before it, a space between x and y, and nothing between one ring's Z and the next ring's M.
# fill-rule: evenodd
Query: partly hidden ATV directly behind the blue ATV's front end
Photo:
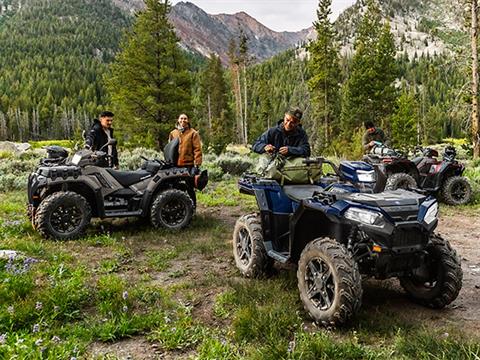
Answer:
M363 160L375 167L375 192L417 187L420 175L415 163L398 150L377 143Z

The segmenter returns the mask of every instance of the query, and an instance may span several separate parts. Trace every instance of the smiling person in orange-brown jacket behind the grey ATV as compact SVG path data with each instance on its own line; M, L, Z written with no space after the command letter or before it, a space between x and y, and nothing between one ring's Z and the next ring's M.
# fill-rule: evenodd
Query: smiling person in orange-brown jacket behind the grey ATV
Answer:
M175 129L170 132L168 141L179 139L178 166L198 168L202 165L202 142L198 131L190 126L186 114L180 114Z

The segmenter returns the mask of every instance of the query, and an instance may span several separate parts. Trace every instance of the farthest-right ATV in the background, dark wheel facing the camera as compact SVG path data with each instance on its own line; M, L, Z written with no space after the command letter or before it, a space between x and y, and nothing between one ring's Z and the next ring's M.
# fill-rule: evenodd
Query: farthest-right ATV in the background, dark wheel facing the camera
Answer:
M449 205L463 205L472 198L472 188L463 175L465 166L455 158L457 151L447 146L443 159L438 160L438 151L417 147L422 156L412 159L419 172L419 187L431 194L439 195Z

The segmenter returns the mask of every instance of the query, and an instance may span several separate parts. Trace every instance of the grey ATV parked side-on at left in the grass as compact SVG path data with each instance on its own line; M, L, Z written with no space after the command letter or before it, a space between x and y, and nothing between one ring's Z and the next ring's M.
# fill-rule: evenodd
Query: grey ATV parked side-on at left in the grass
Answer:
M103 167L103 151L80 150L71 160L58 147L47 152L28 179L28 214L46 238L78 237L91 217L149 217L155 227L182 229L195 211L195 188L208 182L206 171L168 161L144 159L137 171L118 171Z

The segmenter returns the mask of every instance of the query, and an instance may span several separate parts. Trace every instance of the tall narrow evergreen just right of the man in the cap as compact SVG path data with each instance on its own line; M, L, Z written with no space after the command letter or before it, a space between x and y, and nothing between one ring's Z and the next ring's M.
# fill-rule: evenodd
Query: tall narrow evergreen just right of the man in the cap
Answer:
M318 2L317 20L314 23L317 39L310 43L308 68L311 78L308 81L312 100L311 142L320 148L326 148L334 133L336 115L339 110L339 84L341 72L339 51L335 41L336 33L330 22L331 0Z

